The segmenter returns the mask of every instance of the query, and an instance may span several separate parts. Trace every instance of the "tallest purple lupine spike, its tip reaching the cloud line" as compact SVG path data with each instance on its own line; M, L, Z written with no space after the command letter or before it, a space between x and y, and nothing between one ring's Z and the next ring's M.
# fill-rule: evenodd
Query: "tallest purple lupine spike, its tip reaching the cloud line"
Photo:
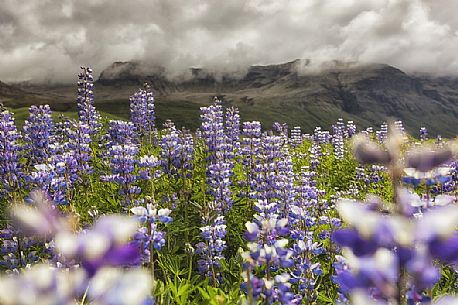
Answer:
M91 135L96 134L100 127L100 114L94 107L94 77L92 69L81 67L81 73L78 75L78 116L82 124L89 126Z

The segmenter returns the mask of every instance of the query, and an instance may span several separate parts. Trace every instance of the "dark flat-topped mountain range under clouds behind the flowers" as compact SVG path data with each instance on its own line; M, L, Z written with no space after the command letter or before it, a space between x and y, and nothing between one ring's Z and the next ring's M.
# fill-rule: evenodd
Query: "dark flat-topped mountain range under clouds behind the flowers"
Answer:
M315 67L310 60L251 66L243 73L214 73L192 68L170 78L166 69L141 62L115 62L96 81L96 105L128 117L128 96L148 82L156 93L158 119L196 128L199 108L218 96L237 106L242 120L275 121L328 128L339 117L361 127L378 126L389 118L403 120L417 134L425 126L431 134L458 134L458 78L407 74L385 64L333 61ZM74 105L75 88L28 87L62 103ZM65 102L64 102L65 101ZM73 106L72 106L73 107Z

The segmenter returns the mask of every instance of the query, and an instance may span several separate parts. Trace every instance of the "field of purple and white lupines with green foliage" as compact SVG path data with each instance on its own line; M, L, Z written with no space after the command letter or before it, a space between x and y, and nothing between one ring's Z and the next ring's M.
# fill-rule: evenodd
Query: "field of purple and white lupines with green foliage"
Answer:
M456 140L217 99L158 126L147 85L109 121L95 91L82 67L78 120L1 110L0 304L458 304Z

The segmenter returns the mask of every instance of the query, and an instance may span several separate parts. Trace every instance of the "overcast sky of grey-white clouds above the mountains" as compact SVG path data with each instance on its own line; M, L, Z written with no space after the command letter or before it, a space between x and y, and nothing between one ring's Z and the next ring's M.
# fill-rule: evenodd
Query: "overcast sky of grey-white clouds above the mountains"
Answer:
M296 58L458 75L456 0L0 0L0 80L75 81L113 61L172 74Z

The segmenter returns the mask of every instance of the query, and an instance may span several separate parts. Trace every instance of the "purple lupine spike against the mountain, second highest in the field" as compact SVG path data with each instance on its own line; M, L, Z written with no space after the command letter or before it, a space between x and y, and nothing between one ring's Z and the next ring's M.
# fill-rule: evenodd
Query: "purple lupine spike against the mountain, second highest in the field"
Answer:
M138 90L130 98L130 120L142 136L155 131L154 94L148 87Z

